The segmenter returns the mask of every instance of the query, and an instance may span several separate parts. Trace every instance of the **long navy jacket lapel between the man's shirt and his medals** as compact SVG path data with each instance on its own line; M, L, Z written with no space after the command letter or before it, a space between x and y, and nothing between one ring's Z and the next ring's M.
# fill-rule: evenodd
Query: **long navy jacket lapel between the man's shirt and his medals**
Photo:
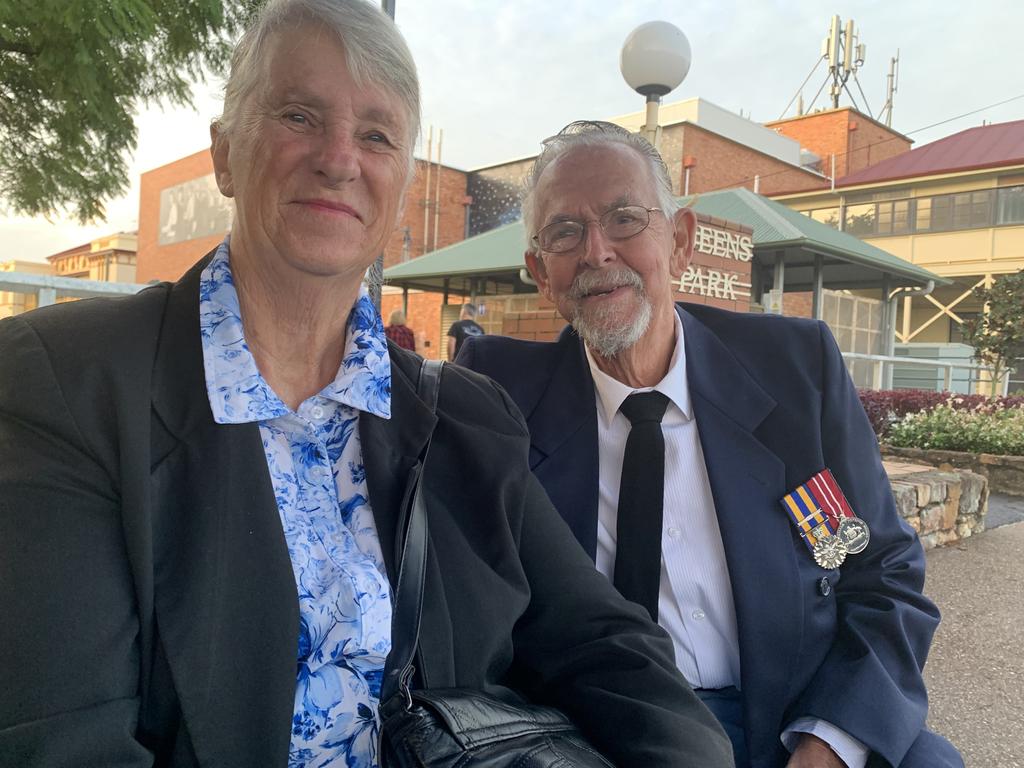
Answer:
M748 738L769 734L764 743L749 746L755 756L774 755L799 648L794 632L803 626L797 553L778 508L785 466L756 435L775 401L722 339L682 308L679 312L687 381L732 582Z

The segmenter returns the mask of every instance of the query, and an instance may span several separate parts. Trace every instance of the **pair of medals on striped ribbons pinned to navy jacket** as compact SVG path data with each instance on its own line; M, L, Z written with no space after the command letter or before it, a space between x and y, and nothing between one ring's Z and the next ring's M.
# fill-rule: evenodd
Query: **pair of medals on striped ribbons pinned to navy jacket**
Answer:
M782 497L782 508L822 568L838 568L848 554L867 548L867 523L853 513L831 472L823 469Z

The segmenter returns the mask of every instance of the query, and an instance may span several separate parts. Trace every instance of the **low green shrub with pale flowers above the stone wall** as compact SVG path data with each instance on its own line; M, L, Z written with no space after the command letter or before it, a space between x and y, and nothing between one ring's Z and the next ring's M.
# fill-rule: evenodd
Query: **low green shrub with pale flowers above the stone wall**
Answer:
M886 441L900 447L1024 456L1024 409L938 406L904 416L890 427Z

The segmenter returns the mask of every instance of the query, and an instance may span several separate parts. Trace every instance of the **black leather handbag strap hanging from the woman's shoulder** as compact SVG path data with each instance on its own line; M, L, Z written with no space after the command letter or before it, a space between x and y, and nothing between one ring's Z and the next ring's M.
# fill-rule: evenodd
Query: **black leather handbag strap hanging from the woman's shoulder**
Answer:
M437 411L437 393L441 385L441 360L423 360L417 391L420 399ZM431 434L431 439L433 435ZM413 659L420 644L420 617L423 611L423 580L427 562L427 507L423 501L423 471L430 453L430 439L423 449L414 482L413 503L406 523L406 537L398 564L398 585L394 590L394 610L391 616L391 653L388 674L381 685L381 706L394 706L395 695L402 693L406 708L413 699L409 685L413 678Z

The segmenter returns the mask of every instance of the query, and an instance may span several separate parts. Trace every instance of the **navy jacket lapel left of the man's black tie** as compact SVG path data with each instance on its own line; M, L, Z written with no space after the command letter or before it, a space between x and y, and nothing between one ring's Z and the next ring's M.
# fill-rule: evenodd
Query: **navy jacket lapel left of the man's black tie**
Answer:
M552 349L547 386L526 416L530 469L594 559L597 552L597 401L583 341L566 327Z

